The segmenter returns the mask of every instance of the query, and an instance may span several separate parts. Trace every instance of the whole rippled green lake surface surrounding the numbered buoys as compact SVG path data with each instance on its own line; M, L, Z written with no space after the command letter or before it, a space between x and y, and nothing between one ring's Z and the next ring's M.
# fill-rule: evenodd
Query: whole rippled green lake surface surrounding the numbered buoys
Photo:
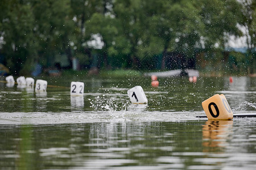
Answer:
M256 114L256 78L40 79L47 94L0 83L0 169L256 169L256 118L196 117L215 94L234 114ZM70 96L72 81L83 97ZM147 105L130 103L137 85Z

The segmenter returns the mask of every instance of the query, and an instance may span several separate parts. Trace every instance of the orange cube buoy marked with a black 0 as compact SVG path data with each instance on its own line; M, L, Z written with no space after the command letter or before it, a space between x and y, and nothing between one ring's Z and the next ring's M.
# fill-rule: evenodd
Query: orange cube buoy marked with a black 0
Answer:
M209 120L232 120L233 112L224 95L214 95L202 102Z

